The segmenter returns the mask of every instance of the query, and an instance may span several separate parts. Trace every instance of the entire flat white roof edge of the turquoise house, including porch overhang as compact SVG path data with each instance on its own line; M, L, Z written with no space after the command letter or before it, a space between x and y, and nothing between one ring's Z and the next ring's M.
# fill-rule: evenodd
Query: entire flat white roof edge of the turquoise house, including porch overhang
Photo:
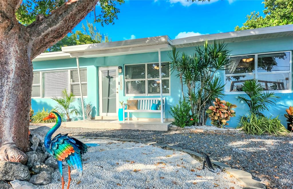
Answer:
M66 46L62 47L61 52L41 53L33 61L56 60L70 57L90 58L101 56L116 56L124 54L155 52L158 51L158 49L161 49L161 51L166 51L171 50L172 46L175 46L176 48L183 48L201 45L205 40L220 40L229 43L283 36L293 36L293 25L206 34L180 39L170 39L170 37L164 35L157 37L130 39L125 41L113 41L108 43Z

